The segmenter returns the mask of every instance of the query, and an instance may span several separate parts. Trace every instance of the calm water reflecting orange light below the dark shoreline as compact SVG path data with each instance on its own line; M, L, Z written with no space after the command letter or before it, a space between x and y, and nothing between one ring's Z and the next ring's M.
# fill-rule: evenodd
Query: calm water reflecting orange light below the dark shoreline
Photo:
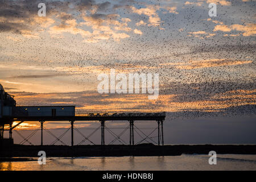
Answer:
M123 156L90 158L47 158L37 161L0 162L0 170L254 170L256 155L217 155L217 164L209 165L208 155Z

